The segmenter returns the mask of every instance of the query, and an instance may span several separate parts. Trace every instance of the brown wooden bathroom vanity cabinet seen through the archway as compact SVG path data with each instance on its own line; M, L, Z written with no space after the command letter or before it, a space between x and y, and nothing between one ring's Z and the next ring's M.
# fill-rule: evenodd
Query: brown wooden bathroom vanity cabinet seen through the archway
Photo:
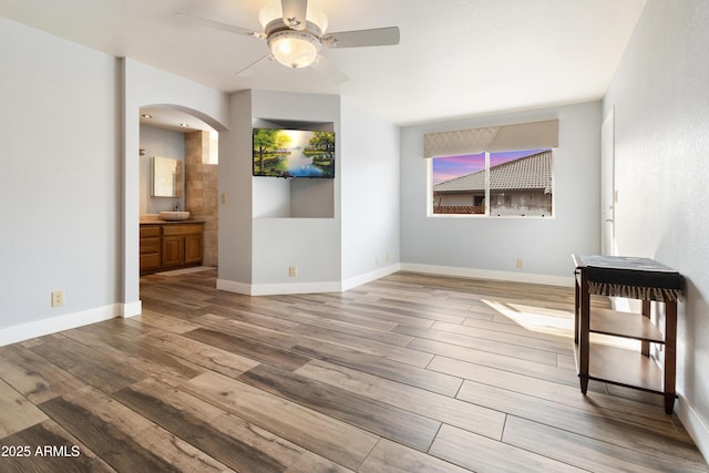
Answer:
M199 266L203 254L202 222L141 224L141 275Z

